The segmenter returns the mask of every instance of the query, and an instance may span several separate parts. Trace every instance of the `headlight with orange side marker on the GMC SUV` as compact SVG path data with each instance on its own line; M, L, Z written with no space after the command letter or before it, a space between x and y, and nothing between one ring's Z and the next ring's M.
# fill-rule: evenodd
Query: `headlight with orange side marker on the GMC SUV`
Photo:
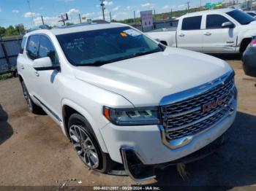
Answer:
M115 125L158 125L158 107L139 109L113 109L104 106L103 115Z

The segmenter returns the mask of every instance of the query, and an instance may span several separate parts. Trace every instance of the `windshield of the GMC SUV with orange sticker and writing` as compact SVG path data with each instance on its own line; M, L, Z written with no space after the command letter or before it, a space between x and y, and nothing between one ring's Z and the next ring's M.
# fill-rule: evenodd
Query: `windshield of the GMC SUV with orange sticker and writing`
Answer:
M162 51L159 44L128 26L61 34L57 39L74 66L102 66Z

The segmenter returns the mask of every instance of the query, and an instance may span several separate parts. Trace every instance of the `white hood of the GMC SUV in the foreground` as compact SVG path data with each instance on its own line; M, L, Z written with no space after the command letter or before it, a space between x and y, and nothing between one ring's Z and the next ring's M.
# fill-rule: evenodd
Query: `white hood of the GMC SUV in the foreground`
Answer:
M74 70L77 79L123 95L135 106L157 106L165 96L203 85L230 71L218 58L167 47L156 52L100 67Z

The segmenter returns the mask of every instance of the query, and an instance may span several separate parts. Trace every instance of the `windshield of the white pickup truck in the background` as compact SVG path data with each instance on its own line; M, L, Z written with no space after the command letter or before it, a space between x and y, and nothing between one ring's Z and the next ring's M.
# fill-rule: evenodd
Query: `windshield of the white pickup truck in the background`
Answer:
M233 19L238 21L238 23L240 23L241 25L247 25L255 20L255 17L252 17L246 12L242 12L238 9L227 12L227 15L230 15L230 17L233 17Z

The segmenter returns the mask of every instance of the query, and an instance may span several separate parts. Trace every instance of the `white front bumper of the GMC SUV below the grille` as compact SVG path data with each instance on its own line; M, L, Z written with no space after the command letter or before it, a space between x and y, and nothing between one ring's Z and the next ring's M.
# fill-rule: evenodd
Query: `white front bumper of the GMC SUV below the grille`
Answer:
M101 129L102 137L112 160L123 163L120 149L129 147L144 165L156 165L178 160L210 144L222 136L230 128L236 117L236 100L233 103L235 110L214 127L195 136L189 144L177 149L170 149L162 142L161 128L158 125L148 126L116 126L109 123Z

